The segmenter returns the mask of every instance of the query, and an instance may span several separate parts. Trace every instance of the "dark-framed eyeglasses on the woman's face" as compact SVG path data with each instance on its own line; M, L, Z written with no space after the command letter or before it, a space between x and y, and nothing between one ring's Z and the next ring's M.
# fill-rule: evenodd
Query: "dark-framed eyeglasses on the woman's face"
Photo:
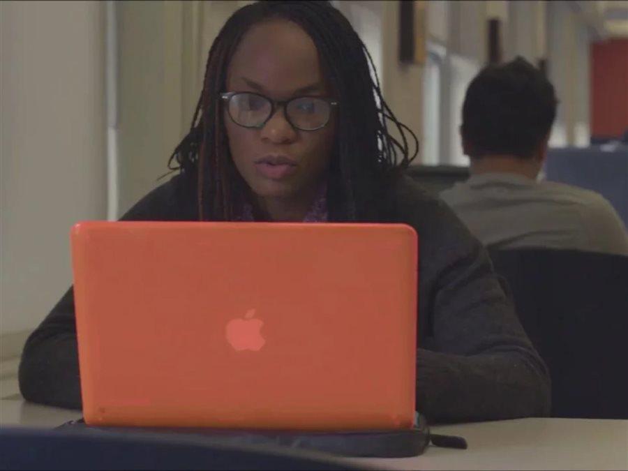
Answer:
M324 128L331 118L331 110L338 106L336 100L320 96L299 96L290 100L271 100L267 96L250 91L230 91L220 94L227 103L231 120L244 128L263 128L275 114L277 107L283 107L285 119L299 130Z

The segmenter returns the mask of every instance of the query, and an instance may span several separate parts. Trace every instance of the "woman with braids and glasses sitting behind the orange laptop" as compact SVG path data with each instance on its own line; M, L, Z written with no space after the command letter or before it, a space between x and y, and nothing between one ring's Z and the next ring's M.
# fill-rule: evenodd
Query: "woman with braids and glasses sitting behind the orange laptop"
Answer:
M179 174L123 219L412 225L421 240L417 410L432 421L547 414L546 366L479 242L404 177L408 130L374 75L329 3L241 8L209 51L190 132L170 160ZM27 400L80 408L71 289L27 341L20 388Z

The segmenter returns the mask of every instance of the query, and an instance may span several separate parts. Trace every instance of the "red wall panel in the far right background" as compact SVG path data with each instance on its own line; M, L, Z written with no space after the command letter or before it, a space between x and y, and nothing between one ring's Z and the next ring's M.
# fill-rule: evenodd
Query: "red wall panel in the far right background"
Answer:
M628 130L628 39L591 45L591 135Z

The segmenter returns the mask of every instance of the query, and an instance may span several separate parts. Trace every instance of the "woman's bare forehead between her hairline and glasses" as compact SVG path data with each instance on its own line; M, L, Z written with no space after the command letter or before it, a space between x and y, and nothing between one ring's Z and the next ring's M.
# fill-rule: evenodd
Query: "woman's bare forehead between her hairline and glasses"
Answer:
M227 88L251 88L276 98L317 84L327 93L316 46L299 25L287 20L257 24L242 38L227 73ZM313 91L315 93L315 91Z

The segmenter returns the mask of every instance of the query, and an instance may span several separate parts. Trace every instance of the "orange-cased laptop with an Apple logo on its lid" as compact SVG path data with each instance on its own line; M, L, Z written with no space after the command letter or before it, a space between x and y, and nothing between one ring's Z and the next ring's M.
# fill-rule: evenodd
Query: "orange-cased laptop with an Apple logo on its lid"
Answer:
M100 221L71 244L87 424L412 428L412 227Z

